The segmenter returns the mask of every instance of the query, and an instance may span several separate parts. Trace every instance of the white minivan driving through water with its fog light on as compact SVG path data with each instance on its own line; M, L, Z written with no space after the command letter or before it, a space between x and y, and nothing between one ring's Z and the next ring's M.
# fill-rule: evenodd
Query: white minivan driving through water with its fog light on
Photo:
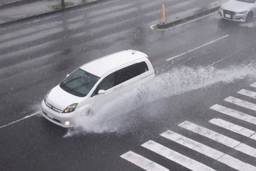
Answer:
M105 104L155 77L143 52L126 50L80 66L42 101L42 115L62 127L75 126L76 116L97 115Z

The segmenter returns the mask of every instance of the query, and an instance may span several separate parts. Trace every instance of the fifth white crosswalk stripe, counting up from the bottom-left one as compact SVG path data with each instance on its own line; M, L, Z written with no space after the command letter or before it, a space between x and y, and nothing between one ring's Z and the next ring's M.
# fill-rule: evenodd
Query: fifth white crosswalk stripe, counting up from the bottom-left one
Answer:
M255 131L249 130L245 127L239 126L234 123L227 122L226 120L222 119L211 119L209 123L215 124L216 126L222 127L224 129L233 131L234 133L241 134L242 136L251 137L255 134Z

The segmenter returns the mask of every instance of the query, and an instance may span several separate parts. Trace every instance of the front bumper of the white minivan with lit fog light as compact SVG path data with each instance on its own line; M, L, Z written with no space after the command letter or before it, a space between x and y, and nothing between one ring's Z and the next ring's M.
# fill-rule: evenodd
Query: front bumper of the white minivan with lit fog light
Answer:
M74 116L75 113L59 113L51 108L49 108L47 105L45 105L44 100L41 102L42 106L42 116L45 117L45 119L49 120L52 123L58 124L62 127L74 127ZM65 122L69 122L69 124L65 124Z

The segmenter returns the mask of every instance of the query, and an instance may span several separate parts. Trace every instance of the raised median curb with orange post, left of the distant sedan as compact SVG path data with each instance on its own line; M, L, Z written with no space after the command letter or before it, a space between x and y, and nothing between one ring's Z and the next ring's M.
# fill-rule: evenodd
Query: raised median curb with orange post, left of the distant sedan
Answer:
M198 17L202 17L202 16L205 16L205 15L209 15L210 13L212 12L215 12L216 10L219 9L219 6L216 6L215 8L211 8L211 9L208 9L208 10L205 10L203 12L200 12L200 13L195 13L194 15L190 15L188 17L184 17L182 19L178 19L178 20L175 20L173 22L169 22L169 23L165 23L163 25L161 24L156 24L156 27L158 29L168 29L170 27L173 27L173 26L176 26L176 25L179 25L179 24L182 24L184 22L188 22L190 20L194 20L194 19L197 19Z

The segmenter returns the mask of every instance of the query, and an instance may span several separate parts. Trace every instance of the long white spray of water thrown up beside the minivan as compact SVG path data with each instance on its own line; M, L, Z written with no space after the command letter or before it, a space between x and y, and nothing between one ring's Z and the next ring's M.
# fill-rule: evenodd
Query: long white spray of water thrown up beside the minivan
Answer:
M147 85L113 99L94 116L77 118L76 127L69 130L65 137L81 133L125 131L126 126L133 124L127 122L136 122L136 119L129 119L130 115L127 113L140 108L145 103L150 104L162 98L208 87L215 83L230 83L244 77L256 77L256 67L253 62L249 65L232 66L226 69L176 67L169 72L159 74ZM147 111L141 112L144 119L152 115Z

